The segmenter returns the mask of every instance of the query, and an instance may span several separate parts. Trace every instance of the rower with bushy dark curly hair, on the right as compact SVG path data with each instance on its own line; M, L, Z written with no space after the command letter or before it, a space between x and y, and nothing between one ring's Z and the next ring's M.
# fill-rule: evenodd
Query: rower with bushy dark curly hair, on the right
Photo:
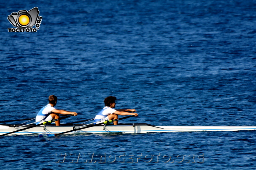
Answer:
M114 96L108 96L105 98L104 103L105 106L94 118L94 122L96 121L105 121L105 120L114 120L118 119L118 115L134 115L138 116L138 113L129 113L136 112L135 109L113 109L116 107L117 98ZM128 111L128 112L127 112ZM101 122L98 122L101 123ZM118 121L113 122L114 125L118 124Z

